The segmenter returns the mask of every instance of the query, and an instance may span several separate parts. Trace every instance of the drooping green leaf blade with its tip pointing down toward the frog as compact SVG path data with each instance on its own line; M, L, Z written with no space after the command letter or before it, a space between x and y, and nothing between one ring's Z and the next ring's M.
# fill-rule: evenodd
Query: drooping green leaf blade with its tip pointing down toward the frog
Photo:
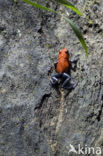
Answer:
M80 30L78 29L77 25L74 24L70 19L68 19L67 17L63 16L63 18L70 24L70 26L72 27L73 31L75 32L76 36L78 37L78 39L80 40L83 48L85 49L86 55L88 56L88 48L87 45L85 43L85 40L82 36L82 33L80 32Z

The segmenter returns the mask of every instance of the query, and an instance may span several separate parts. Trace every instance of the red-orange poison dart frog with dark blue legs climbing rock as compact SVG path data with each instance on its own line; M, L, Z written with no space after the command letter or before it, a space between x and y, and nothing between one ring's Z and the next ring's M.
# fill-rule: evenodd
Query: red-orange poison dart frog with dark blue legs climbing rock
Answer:
M71 67L71 63L76 63L76 62L77 59L73 61L70 60L69 52L66 48L61 49L59 51L58 62L54 64L57 73L52 76L51 84L53 86L58 85L59 79L64 79L62 87L68 90L74 89L76 84L75 83L70 84L71 77L69 75L69 70Z

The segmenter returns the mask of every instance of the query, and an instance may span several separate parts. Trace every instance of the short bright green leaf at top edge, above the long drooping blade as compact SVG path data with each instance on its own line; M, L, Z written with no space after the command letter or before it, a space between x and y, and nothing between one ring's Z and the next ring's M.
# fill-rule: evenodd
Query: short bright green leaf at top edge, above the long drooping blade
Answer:
M67 8L70 8L73 11L75 11L78 15L82 16L82 13L71 2L69 2L67 0L55 0L55 1L58 2L58 3L63 4Z

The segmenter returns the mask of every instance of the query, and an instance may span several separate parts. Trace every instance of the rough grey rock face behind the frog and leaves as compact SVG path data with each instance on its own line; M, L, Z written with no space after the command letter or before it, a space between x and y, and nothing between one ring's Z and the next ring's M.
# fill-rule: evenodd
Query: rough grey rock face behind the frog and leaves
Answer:
M84 34L88 57L62 18L0 0L0 156L103 155L103 2L72 2L83 12L69 16ZM64 47L79 57L71 92L49 84Z

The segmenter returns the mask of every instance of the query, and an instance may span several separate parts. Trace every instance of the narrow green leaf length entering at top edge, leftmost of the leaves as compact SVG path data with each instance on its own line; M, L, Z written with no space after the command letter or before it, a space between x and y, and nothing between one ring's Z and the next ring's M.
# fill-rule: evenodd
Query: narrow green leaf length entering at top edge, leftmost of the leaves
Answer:
M38 9L42 9L42 10L46 10L46 11L56 13L56 11L54 11L54 10L52 10L50 8L47 8L47 7L43 6L43 5L40 5L40 4L36 3L36 2L31 2L30 0L23 0L23 1L30 4L30 5L32 5L32 6L34 6L34 7L36 7L36 8L38 8Z

